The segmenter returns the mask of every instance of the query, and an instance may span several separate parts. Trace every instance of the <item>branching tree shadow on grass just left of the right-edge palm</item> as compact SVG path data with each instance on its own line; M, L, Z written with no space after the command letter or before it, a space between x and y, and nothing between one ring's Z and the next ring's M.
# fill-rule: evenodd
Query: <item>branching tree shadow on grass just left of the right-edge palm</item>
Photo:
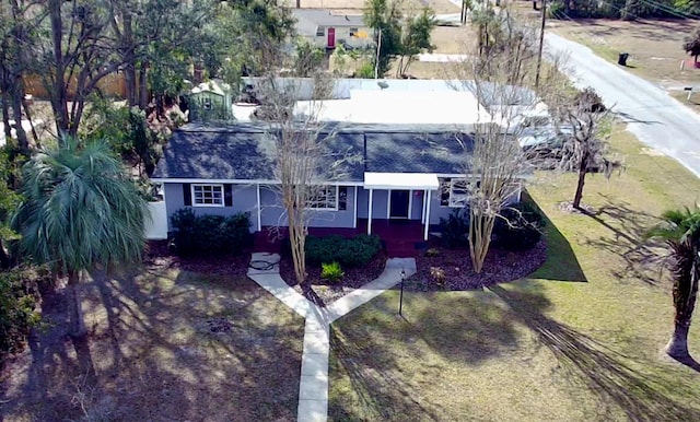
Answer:
M583 214L599 223L608 233L588 238L585 244L622 259L625 267L611 271L616 279L642 280L657 285L667 250L663 242L649 239L646 233L661 220L645 211L632 209L628 202L599 195L605 203Z

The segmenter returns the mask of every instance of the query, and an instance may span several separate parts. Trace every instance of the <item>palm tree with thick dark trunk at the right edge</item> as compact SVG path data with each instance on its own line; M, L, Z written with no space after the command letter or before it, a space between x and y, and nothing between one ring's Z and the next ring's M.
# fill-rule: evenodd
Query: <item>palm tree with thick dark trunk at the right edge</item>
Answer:
M700 209L668 210L663 218L664 226L653 230L651 236L666 239L673 258L676 316L674 336L666 345L666 353L685 359L690 356L688 331L700 282Z

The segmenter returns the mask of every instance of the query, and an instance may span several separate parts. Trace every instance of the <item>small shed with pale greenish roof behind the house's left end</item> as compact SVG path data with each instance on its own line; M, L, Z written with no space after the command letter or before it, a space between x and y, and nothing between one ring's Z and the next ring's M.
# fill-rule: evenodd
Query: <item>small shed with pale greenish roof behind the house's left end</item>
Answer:
M189 92L190 120L229 119L232 102L228 83L215 79L202 82Z

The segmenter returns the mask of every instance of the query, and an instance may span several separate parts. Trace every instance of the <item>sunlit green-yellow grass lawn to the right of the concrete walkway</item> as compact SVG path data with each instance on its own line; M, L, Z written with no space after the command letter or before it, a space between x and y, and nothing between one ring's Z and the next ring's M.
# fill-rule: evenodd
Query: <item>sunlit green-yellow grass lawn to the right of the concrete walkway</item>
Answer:
M628 132L627 172L590 177L593 216L559 209L574 175L529 187L549 258L486 291L388 292L334 325L331 420L700 420L700 374L663 353L673 330L663 245L643 233L700 180ZM467 257L465 257L467 259ZM700 328L690 333L700 353Z

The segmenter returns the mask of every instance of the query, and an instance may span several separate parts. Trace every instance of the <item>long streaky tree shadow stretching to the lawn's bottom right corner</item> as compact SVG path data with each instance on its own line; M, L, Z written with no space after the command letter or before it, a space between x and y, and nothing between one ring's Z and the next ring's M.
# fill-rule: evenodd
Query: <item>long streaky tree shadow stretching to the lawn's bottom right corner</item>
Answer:
M590 388L605 400L611 399L632 421L698 421L700 411L670 398L675 385L640 373L617 353L588 336L561 325L527 306L517 292L494 285L489 288L506 303L520 320L532 329L563 367L583 376ZM608 409L611 411L611 409Z

